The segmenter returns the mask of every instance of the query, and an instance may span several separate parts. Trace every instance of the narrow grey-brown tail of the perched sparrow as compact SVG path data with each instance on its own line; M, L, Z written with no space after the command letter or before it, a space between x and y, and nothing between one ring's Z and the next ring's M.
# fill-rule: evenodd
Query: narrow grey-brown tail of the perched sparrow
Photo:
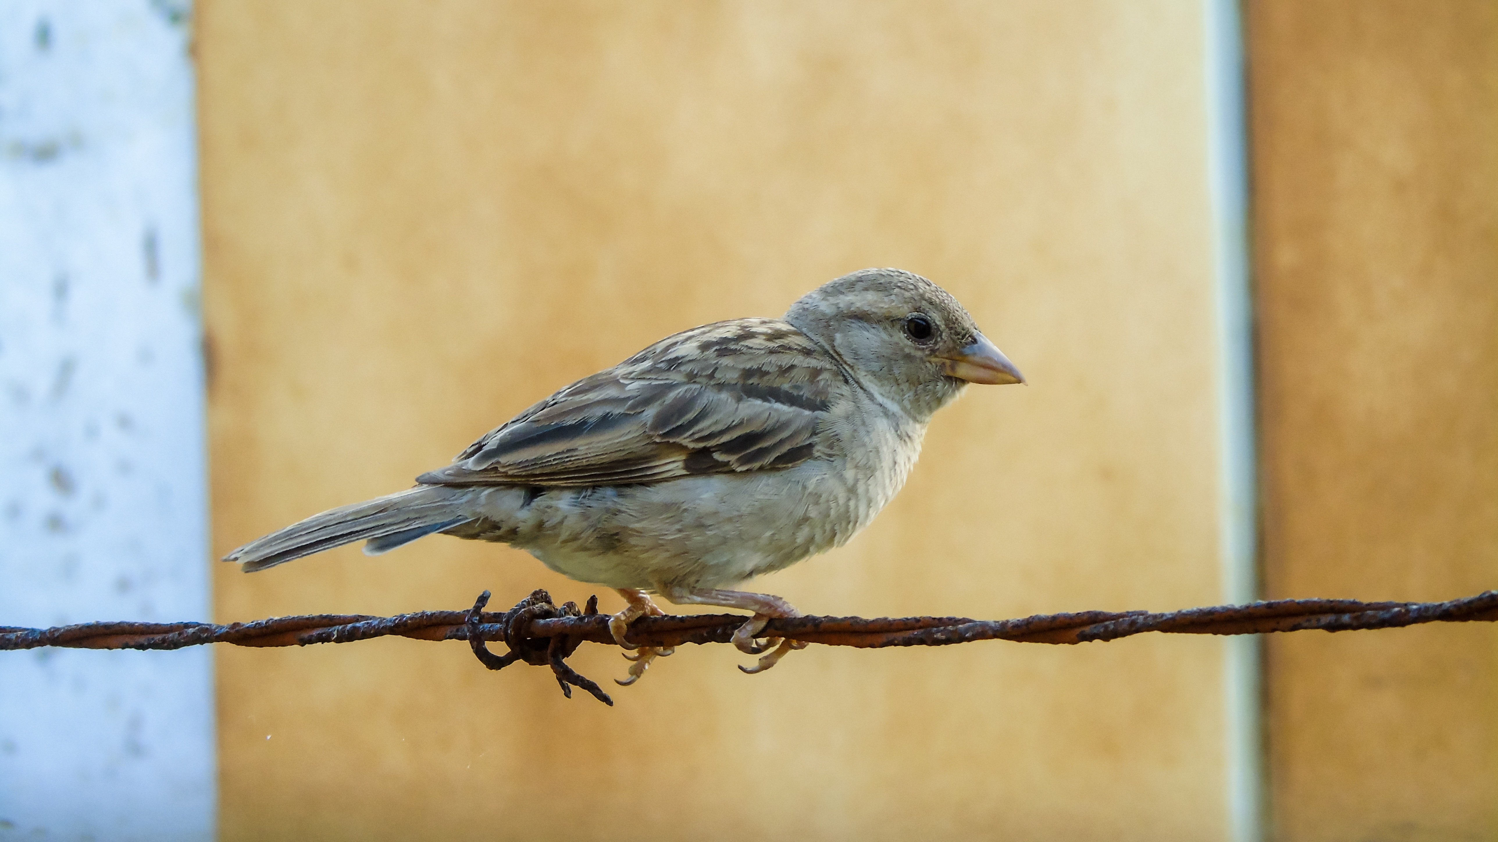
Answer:
M223 560L240 562L244 565L244 572L255 572L354 541L369 541L364 551L377 556L470 520L463 514L464 496L463 488L416 485L395 494L315 514L301 523L250 541Z

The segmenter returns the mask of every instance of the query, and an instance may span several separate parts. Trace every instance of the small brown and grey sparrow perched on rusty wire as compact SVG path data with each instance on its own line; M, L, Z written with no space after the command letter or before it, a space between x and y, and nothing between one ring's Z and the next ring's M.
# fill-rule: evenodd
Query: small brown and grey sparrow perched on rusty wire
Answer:
M614 589L616 643L638 680L670 649L628 626L673 604L752 611L733 635L758 673L791 640L756 640L783 598L737 590L848 542L905 484L932 415L969 384L1023 384L941 286L869 268L803 295L783 318L691 328L577 381L490 430L416 485L250 541L223 557L262 571L366 541L427 535L523 548Z

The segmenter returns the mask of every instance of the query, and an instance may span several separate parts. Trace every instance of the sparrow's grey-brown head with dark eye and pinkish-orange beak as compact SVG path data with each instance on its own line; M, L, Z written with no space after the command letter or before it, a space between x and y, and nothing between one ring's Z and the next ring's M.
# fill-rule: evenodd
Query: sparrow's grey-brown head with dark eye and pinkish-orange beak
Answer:
M968 384L1025 378L945 289L902 270L863 270L807 292L785 321L926 421Z

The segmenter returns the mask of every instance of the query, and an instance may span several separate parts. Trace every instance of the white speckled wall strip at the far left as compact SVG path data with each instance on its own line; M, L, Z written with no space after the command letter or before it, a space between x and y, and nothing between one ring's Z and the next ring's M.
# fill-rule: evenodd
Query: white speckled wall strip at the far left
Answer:
M0 3L0 625L205 620L187 6ZM0 839L208 839L213 664L0 652Z

